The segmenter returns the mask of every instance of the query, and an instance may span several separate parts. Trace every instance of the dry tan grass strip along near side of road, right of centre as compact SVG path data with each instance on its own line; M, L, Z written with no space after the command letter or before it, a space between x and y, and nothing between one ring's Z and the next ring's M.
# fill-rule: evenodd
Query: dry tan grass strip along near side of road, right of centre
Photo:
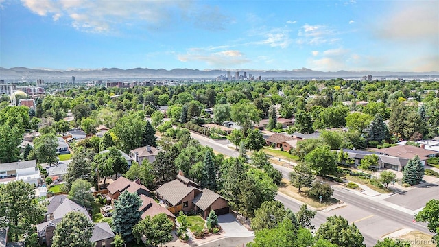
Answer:
M290 196L296 200L300 200L300 202L306 203L309 206L316 208L316 209L324 209L326 207L332 206L334 204L338 204L340 201L331 198L331 200L328 200L327 202L320 203L318 200L314 200L313 198L307 197L307 194L305 191L308 190L308 188L302 187L300 189L302 193L299 193L298 189L292 185L289 184L289 180L283 179L281 185L279 185L278 191L284 193L287 196Z

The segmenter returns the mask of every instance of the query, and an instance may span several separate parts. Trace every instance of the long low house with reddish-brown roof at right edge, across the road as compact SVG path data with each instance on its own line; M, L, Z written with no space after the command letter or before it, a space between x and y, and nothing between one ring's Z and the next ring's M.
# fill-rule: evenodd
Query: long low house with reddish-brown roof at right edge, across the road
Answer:
M396 145L390 148L381 148L376 151L380 154L407 159L413 159L417 155L422 165L425 165L425 161L427 161L428 158L439 154L438 152L418 148L413 145Z

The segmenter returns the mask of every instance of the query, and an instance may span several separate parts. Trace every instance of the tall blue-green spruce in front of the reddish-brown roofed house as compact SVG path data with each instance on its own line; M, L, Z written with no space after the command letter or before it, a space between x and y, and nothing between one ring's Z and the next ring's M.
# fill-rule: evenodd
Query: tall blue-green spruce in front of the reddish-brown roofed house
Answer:
M115 201L115 211L112 215L111 229L119 233L125 242L131 242L134 239L133 226L141 219L141 199L137 193L123 191L118 200ZM135 234L135 233L134 233Z

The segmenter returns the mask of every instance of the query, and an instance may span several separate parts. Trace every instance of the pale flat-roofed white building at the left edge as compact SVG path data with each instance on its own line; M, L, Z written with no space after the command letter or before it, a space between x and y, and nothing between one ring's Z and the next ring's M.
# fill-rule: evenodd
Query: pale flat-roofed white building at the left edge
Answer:
M35 160L0 163L0 184L23 180L26 183L38 186L40 178L40 170L36 167Z

